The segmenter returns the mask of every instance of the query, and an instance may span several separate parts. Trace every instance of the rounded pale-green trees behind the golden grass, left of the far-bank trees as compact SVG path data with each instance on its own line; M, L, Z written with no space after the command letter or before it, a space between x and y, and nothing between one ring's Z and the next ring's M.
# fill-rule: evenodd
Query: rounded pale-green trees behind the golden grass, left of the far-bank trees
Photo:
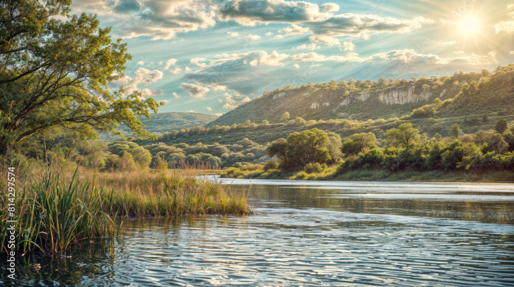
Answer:
M66 148L57 152L47 151L46 158L50 161L64 161ZM68 158L72 161L96 170L132 171L145 167L155 168L159 161L168 163L169 168L203 167L223 168L241 163L264 164L270 158L266 154L266 146L254 143L245 138L230 145L196 143L188 145L180 143L166 145L163 143L139 146L131 141L88 140L80 142L70 149ZM45 158L41 152L40 156Z

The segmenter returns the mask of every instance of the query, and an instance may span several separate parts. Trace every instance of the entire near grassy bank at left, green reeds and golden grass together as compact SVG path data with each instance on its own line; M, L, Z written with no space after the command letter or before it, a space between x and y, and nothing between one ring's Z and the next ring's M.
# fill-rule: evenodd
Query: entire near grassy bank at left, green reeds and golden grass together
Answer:
M23 169L23 168L21 168ZM7 165L2 166L7 177ZM247 195L185 170L95 173L72 165L16 171L14 216L0 197L0 246L10 251L7 220L16 220L16 254L63 251L93 238L113 238L123 217L250 214ZM7 182L0 183L7 190Z

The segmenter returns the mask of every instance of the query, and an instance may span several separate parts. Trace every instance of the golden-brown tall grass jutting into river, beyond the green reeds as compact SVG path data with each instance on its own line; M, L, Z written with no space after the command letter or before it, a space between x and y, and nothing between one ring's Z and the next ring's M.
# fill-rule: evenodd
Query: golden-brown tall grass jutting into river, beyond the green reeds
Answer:
M87 173L81 176L90 177ZM109 214L164 216L196 214L249 214L247 194L228 193L224 185L189 175L185 170L162 173L99 173Z

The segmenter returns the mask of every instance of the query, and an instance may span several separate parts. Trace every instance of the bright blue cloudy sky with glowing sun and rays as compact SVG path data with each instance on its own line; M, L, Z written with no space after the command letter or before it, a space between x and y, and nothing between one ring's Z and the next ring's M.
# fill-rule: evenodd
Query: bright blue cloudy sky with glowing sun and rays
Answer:
M410 79L514 63L514 2L502 0L83 0L133 59L111 83L221 115L287 85Z

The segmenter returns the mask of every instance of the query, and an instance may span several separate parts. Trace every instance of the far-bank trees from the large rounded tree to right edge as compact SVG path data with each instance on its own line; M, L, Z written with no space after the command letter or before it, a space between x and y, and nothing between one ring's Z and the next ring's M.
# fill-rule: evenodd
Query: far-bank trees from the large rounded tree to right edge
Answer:
M449 137L436 133L420 137L411 123L387 130L378 141L371 132L355 133L340 146L339 158L327 148L327 134L319 129L291 133L287 139L270 143L266 149L277 158L283 171L320 172L327 164L337 164L336 174L352 170L514 170L514 128L500 119L494 130L462 133L454 124ZM381 146L379 146L381 145Z

